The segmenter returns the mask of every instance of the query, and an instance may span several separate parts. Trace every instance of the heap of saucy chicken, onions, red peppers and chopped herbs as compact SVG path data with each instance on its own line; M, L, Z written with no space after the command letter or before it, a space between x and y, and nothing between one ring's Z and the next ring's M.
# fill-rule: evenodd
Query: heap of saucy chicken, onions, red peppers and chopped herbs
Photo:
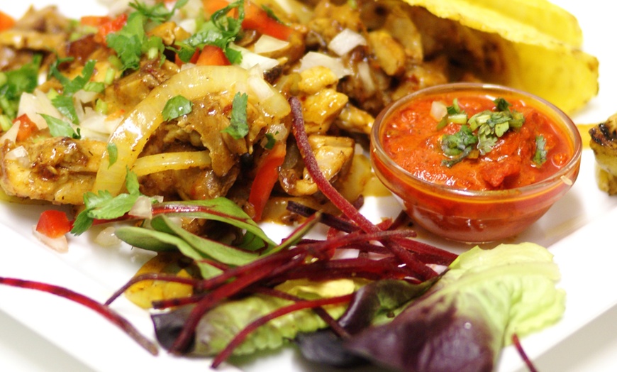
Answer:
M86 191L121 192L130 170L145 195L228 196L280 218L268 212L280 197L324 202L288 140L294 96L322 170L339 186L353 177L345 197L357 199L370 175L355 143L385 105L435 84L523 76L508 60L516 43L418 5L135 3L79 23L31 9L0 34L0 184L79 205ZM262 177L264 167L278 171Z

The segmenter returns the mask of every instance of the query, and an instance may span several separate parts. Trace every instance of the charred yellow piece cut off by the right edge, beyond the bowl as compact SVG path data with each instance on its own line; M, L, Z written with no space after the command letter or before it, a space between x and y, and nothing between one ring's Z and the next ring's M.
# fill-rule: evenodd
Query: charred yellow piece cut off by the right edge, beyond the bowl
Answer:
M617 114L589 130L596 157L596 181L609 195L617 194Z

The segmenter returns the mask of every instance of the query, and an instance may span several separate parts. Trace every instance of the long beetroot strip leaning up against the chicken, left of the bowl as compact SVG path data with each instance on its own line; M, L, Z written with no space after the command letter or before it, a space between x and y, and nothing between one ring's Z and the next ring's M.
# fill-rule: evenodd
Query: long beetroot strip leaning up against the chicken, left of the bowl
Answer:
M300 100L297 97L290 97L289 104L291 106L291 126L293 129L294 137L296 138L296 143L298 144L299 151L304 160L304 165L306 166L306 170L309 171L309 175L313 181L317 184L318 189L326 195L326 197L332 202L340 212L343 212L345 216L347 216L350 220L354 221L355 224L360 226L360 229L367 233L372 233L376 231L381 231L379 227L372 224L366 217L364 217L347 199L342 197L339 192L334 188L333 185L328 182L326 177L321 173L319 169L319 165L315 156L313 155L313 150L311 149L311 144L309 143L309 138L306 136L306 130L304 128L304 117L302 116L302 106ZM416 271L418 277L421 279L433 278L437 273L424 263L418 260L412 253L407 251L405 248L399 246L394 241L386 241L384 245L391 249L392 253L395 256L399 257L401 261L406 263L410 268L413 268Z

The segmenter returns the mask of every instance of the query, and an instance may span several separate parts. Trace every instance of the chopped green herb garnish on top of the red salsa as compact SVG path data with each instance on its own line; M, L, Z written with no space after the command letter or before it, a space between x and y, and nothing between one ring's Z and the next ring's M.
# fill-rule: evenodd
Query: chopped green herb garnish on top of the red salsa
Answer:
M494 99L495 109L485 110L467 119L455 99L448 107L448 114L438 124L438 129L449 123L464 124L454 134L444 134L441 139L443 153L449 158L442 161L448 168L460 163L475 151L479 155L489 153L501 136L510 130L523 126L525 117L519 111L512 110L511 104L503 98Z

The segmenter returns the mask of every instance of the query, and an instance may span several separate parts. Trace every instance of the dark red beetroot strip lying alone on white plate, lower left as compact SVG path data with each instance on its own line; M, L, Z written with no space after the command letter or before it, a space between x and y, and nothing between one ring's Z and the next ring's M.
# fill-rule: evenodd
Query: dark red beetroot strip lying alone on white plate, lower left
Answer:
M12 287L18 288L27 288L30 290L40 290L41 292L47 292L52 295L57 295L66 298L67 300L71 300L73 302L84 305L85 307L88 307L89 309L103 315L113 324L116 324L117 327L122 329L126 334L128 334L130 338L135 340L150 354L158 354L157 346L153 344L150 340L146 339L142 334L140 334L139 331L135 329L135 327L133 327L133 324L130 324L128 320L121 317L118 313L111 310L106 305L96 302L89 297L86 297L67 288L60 287L58 285L40 283L33 280L0 277L0 284L11 285Z

